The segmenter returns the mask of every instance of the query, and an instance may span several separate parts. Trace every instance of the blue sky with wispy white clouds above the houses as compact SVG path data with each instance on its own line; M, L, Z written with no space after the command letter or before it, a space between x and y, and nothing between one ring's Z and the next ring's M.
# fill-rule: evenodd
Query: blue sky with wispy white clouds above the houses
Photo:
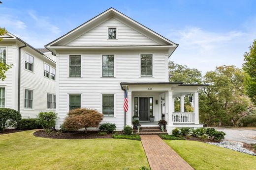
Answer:
M113 7L179 47L169 58L202 73L242 67L256 39L256 0L0 0L0 27L34 48Z

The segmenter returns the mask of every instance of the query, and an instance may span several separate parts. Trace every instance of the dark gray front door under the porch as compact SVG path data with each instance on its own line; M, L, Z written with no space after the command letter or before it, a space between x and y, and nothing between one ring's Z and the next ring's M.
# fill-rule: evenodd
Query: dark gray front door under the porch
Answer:
M139 120L149 120L149 97L139 97Z

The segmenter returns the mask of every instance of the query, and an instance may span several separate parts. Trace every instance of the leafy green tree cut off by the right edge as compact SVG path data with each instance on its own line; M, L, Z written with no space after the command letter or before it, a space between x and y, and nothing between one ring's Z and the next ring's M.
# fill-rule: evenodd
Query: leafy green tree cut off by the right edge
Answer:
M256 104L256 40L253 45L249 47L250 52L244 54L243 69L248 76L245 79L245 91L252 102Z

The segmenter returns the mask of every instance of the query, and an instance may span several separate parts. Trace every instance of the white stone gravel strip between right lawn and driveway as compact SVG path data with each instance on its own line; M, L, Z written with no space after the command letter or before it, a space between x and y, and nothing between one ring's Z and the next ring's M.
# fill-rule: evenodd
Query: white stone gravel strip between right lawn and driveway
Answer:
M250 151L250 150L244 148L243 143L241 143L241 142L222 141L220 143L207 142L207 144L220 146L220 147L224 147L224 148L236 150L238 152L243 152L243 153L247 153L247 154L256 156L256 154L253 151Z

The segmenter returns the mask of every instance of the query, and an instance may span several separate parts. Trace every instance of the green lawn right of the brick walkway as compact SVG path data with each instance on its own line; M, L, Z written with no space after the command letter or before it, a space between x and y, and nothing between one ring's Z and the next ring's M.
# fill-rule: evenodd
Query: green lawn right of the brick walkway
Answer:
M195 170L256 170L256 156L196 141L164 142Z

